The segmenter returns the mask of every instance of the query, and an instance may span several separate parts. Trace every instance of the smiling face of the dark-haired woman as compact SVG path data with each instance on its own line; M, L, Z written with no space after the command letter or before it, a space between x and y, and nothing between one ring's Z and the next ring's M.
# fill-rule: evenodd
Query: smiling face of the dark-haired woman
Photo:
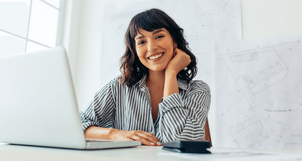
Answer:
M168 30L157 29L152 32L139 30L135 36L135 49L140 62L149 70L162 71L173 58L177 47Z

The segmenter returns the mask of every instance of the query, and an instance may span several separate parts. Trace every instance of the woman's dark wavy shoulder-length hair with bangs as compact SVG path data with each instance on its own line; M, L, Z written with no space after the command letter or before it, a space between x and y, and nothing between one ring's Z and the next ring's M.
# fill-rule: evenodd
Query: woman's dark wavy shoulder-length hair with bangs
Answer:
M184 30L180 28L175 21L165 12L159 9L150 9L135 15L128 26L125 34L126 51L120 58L120 71L122 76L119 77L121 84L126 84L127 87L135 85L144 74L149 72L138 59L135 50L135 36L140 29L152 32L157 29L165 28L169 31L174 42L177 43L177 48L184 51L191 58L191 63L182 69L177 78L190 82L197 73L197 59L189 48L189 43L184 38Z

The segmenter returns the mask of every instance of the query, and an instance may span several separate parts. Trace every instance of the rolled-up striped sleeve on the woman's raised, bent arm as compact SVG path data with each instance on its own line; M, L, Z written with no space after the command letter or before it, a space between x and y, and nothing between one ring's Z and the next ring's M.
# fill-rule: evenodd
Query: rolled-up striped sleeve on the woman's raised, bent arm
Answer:
M195 81L184 98L175 93L159 104L159 132L163 142L199 140L204 136L204 124L210 106L210 90L206 83Z

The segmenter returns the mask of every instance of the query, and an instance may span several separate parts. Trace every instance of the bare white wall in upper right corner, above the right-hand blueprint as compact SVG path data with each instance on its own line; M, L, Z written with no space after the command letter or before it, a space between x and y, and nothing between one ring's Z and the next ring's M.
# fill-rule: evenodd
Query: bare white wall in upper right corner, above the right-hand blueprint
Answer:
M302 34L301 0L242 0L243 39Z

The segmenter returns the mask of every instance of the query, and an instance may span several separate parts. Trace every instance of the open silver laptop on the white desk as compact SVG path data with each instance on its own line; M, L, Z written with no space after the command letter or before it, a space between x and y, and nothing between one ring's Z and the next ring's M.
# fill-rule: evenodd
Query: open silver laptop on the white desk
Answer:
M0 58L0 142L74 149L141 145L85 139L63 47Z

